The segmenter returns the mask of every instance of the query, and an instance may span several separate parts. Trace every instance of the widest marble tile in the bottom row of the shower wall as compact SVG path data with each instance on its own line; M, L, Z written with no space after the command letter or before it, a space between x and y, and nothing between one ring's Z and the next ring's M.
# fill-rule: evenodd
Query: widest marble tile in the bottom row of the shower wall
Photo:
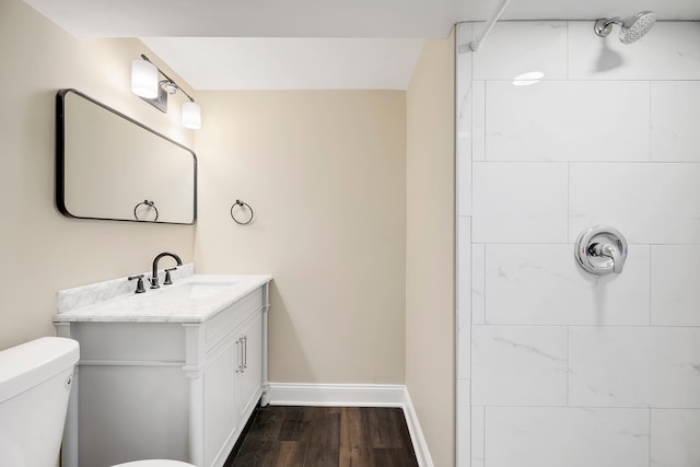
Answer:
M487 407L488 467L643 467L649 410Z

